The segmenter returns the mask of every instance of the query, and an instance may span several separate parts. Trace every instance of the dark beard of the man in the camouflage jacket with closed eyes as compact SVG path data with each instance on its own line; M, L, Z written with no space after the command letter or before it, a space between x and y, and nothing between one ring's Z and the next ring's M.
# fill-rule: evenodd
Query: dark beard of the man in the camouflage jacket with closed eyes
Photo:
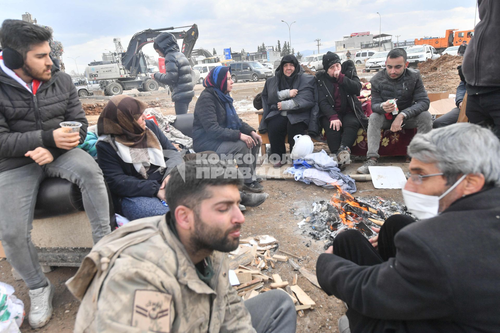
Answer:
M194 234L191 235L191 246L195 251L209 250L219 252L231 252L238 248L239 237L229 239L228 235L241 228L236 224L234 228L223 231L203 222L201 217L194 211Z

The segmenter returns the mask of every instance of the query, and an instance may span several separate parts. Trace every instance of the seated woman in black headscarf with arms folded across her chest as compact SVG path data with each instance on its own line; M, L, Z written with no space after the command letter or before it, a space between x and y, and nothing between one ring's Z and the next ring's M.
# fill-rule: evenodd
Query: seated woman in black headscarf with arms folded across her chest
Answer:
M297 58L287 54L276 68L276 75L265 82L261 96L263 115L258 131L269 133L269 160L279 168L286 163L285 136L291 151L293 137L307 134L311 110L315 107L317 112L314 76L305 74Z

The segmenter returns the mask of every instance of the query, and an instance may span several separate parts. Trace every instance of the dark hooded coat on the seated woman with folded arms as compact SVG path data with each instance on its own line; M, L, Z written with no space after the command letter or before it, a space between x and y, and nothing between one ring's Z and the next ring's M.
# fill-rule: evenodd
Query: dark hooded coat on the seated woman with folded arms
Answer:
M285 56L286 57L286 56ZM262 91L262 120L258 127L259 133L267 133L267 122L270 118L280 114L280 110L277 107L277 93L278 93L278 80L283 76L283 65L287 61L286 59L281 60L281 63L276 68L276 75L268 78L264 84L264 90ZM319 134L319 123L317 121L319 114L319 107L317 105L317 90L316 82L314 76L305 74L302 66L298 64L295 57L294 62L297 73L296 78L293 80L292 89L297 89L298 93L293 97L293 101L297 104L294 108L286 110L286 117L291 124L296 124L299 122L304 122L308 125L308 131L313 136ZM281 73L281 74L280 74ZM288 100L289 98L285 99Z

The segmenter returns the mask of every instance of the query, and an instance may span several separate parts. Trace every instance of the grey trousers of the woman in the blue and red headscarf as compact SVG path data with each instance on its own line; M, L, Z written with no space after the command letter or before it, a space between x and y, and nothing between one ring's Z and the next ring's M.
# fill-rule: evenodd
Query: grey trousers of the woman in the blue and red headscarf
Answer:
M256 179L255 166L257 165L259 149L259 144L256 144L250 149L243 141L237 140L223 141L215 152L221 159L223 159L222 155L226 155L229 159L235 159L238 164L238 169L243 176L243 182L251 183Z

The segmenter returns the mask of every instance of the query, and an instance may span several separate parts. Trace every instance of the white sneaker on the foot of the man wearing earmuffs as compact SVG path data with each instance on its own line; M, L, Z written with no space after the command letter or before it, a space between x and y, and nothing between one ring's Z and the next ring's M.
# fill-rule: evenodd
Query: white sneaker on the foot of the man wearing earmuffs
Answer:
M48 281L46 287L29 291L31 308L29 309L29 325L38 329L48 323L52 316L52 299L54 297L54 286Z

